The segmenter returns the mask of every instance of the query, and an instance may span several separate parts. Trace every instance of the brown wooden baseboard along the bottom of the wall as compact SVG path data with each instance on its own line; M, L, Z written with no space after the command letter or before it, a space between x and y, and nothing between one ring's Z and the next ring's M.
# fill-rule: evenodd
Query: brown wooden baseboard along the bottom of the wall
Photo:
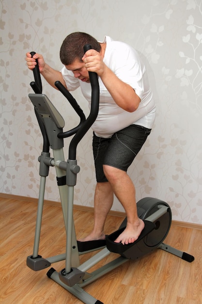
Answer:
M17 201L29 201L33 203L37 203L38 199L36 198L31 198L28 196L20 196L20 195L13 195L13 194L7 194L7 193L0 193L0 198L5 198L5 199L12 199L12 200L17 200ZM45 204L49 204L52 206L60 206L60 202L55 202L55 201L48 201L44 200ZM93 207L88 207L88 206L82 206L82 205L75 205L74 204L74 209L75 210L81 210L85 212L93 212ZM116 216L116 217L125 217L124 212L120 211L109 211L109 215ZM179 226L179 227L184 227L184 228L190 228L190 229L198 229L202 230L202 225L201 224L194 224L194 223L188 223L188 222L183 222L179 220L172 220L172 225Z

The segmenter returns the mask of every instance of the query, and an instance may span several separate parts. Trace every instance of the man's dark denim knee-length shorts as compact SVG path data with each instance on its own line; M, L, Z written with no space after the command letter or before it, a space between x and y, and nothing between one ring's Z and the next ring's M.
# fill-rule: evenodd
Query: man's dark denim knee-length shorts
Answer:
M140 151L151 129L130 125L110 138L98 137L93 133L93 157L97 183L108 182L103 165L127 171Z

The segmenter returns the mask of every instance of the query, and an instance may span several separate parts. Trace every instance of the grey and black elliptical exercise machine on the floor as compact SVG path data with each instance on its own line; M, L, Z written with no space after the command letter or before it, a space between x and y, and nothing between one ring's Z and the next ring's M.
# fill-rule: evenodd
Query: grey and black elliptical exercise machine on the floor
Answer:
M89 49L91 49L90 45L84 46L84 52ZM31 52L31 55L33 56L34 52ZM29 98L34 106L34 111L44 142L43 151L38 158L40 162L40 188L34 246L33 253L27 257L27 266L31 268L31 270L38 271L50 267L53 263L62 260L65 261L65 268L60 271L50 268L47 272L47 276L76 296L81 302L86 304L102 304L101 301L87 293L83 287L125 263L129 259L136 260L147 253L153 252L155 249L162 249L175 254L188 262L192 262L194 260L192 255L181 252L163 243L163 240L168 235L171 227L171 208L168 203L151 197L143 198L137 203L138 215L140 219L144 220L145 228L141 232L138 240L134 243L123 245L122 243L114 242L117 236L119 236L124 230L127 222L126 218L119 229L107 236L106 240L90 242L77 241L73 221L73 202L74 186L76 185L77 174L80 168L77 164L76 152L79 141L89 130L98 114L98 78L96 73L89 72L92 86L92 97L91 110L88 118L85 118L85 115L77 101L65 89L65 87L59 81L55 83L56 87L61 91L65 98L67 98L80 118L78 126L69 131L63 132L65 125L64 119L47 96L42 94L42 83L38 64L33 69L33 74L34 82L31 82L31 87L34 94L29 94ZM72 135L74 136L69 144L68 160L65 161L63 154L63 140L64 138ZM52 149L53 157L50 157L50 148ZM44 258L39 255L39 241L46 178L50 167L55 167L56 169L57 185L60 193L66 231L66 252ZM84 263L80 264L79 256L93 251L98 252ZM111 252L118 253L118 257L99 269L94 270L93 272L88 272L88 270L108 256Z

